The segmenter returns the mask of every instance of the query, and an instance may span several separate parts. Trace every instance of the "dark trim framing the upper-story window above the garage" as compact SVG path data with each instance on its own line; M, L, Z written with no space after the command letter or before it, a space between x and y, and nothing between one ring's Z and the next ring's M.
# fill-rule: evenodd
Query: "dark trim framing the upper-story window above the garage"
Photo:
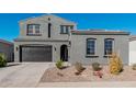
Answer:
M33 33L31 34L31 33L29 33L29 26L30 25L32 25L33 27L32 27L32 30L33 30ZM36 33L36 27L35 27L35 25L38 25L39 26L39 33ZM42 34L41 34L41 24L35 24L35 23L32 23L32 24L27 24L26 25L26 35L29 35L29 36L41 36Z

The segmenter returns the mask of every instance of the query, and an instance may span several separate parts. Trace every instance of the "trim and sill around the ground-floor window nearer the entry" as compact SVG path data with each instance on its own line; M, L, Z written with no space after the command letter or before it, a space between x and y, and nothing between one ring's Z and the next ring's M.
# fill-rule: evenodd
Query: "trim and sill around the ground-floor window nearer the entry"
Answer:
M94 54L88 54L88 41L89 39L94 41ZM97 56L97 38L93 38L93 37L87 38L87 41L86 41L86 57L99 57L99 56Z

